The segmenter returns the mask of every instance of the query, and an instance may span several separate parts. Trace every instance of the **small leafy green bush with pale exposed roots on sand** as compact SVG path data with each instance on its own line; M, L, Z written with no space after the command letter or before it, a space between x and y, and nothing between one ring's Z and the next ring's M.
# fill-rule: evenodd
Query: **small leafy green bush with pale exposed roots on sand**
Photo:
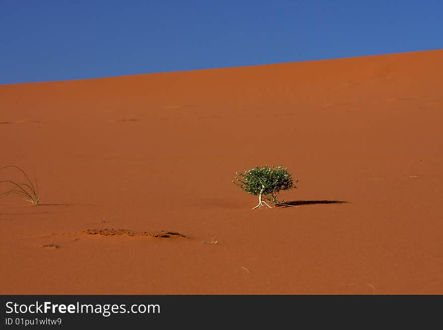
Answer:
M270 206L263 201L262 197L266 198L273 205L284 203L278 201L278 193L281 190L289 190L292 188L297 188L292 180L292 176L287 171L287 168L278 167L268 167L257 166L244 173L236 172L238 177L235 177L233 181L237 186L245 190L248 194L253 194L254 196L259 196L259 203L257 207L261 207L265 204L267 207ZM297 183L296 180L295 183Z

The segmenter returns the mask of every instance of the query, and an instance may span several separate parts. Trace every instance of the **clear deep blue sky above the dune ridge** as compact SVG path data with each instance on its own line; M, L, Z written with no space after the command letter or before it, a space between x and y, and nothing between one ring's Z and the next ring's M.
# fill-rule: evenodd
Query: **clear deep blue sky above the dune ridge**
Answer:
M0 84L443 48L441 0L0 0Z

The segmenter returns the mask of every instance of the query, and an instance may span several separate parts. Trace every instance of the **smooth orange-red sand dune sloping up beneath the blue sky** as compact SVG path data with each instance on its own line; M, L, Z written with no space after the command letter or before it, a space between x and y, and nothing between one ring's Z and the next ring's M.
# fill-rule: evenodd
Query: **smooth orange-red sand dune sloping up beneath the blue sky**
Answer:
M443 294L442 63L0 86L0 166L47 204L0 199L0 293ZM251 209L232 180L266 164L299 207Z

